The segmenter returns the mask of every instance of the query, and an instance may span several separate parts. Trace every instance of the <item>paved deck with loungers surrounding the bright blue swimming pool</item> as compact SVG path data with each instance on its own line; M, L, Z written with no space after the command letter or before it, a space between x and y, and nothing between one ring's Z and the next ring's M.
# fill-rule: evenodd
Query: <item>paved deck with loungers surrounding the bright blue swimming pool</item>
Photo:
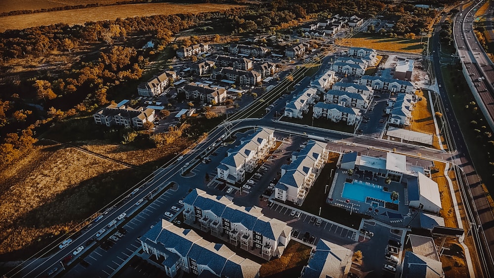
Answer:
M416 217L418 210L411 209L408 206L408 196L406 196L404 183L391 182L391 184L387 185L383 177L372 176L371 172L364 173L364 171L355 171L352 176L349 176L347 170L336 169L334 175L335 179L332 181L332 184L329 185L330 189L326 200L329 204L345 208L348 211L351 211L351 213L368 215L372 219L395 227L414 226L414 224L420 225L420 217ZM394 202L398 205L398 210L389 209L382 206L379 206L376 210L376 208L370 203L344 198L342 196L343 187L346 179L348 178L359 180L364 183L369 182L382 186L383 188L387 187L388 192L398 192L400 198L398 201ZM388 215L388 212L391 213L391 215Z

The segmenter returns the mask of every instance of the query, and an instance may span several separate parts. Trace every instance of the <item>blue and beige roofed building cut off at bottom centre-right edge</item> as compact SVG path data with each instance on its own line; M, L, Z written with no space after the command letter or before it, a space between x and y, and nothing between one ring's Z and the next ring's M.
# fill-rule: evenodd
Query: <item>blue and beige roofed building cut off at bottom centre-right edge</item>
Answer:
M324 239L312 248L300 278L343 278L352 265L353 251Z

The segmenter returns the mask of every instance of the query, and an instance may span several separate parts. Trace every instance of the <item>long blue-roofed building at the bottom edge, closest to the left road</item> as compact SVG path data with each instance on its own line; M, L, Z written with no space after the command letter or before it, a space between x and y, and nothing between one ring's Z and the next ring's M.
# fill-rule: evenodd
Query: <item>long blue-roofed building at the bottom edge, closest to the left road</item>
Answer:
M199 277L259 277L260 264L165 219L139 241L150 255L148 262L164 269L168 277L182 276L180 271Z

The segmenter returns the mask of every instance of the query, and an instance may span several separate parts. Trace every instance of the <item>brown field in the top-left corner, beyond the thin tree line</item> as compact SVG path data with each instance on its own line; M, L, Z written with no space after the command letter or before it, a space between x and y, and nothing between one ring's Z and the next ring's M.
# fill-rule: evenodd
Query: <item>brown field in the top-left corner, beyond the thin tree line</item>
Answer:
M0 13L15 10L39 10L94 3L109 5L119 1L121 0L1 0Z

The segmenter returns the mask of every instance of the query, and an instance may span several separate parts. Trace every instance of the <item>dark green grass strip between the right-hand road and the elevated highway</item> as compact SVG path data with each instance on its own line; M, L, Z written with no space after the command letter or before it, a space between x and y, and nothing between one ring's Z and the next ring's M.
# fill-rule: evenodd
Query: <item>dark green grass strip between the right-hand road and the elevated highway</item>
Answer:
M489 192L493 193L494 167L489 164L489 162L494 161L494 158L490 155L491 153L494 154L494 146L489 143L493 139L486 138L483 134L486 131L492 131L480 109L474 111L474 105L469 104L475 101L475 98L465 81L463 73L453 67L442 68L442 73L456 120L465 138L469 153L472 155L471 158L476 166L475 168L482 177L482 182L487 185ZM466 105L468 105L468 108L465 107ZM473 120L477 123L472 123Z

